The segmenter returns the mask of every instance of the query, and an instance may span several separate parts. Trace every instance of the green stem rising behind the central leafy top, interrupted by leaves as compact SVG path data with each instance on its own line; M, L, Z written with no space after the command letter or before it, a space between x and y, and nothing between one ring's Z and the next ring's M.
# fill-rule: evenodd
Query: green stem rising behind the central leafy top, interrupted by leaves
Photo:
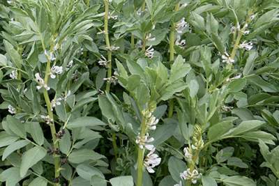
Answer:
M179 3L176 4L174 11L179 10ZM174 42L175 42L175 26L176 22L172 22L172 31L169 33L169 63L172 63L174 61ZM169 113L168 117L172 118L172 115L174 114L174 100L169 100Z

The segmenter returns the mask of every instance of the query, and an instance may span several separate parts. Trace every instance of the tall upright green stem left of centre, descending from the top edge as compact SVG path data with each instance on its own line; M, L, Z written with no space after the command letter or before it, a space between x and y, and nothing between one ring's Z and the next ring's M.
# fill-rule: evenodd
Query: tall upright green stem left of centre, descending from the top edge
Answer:
M109 36L109 29L108 29L108 22L109 22L109 1L104 0L105 3L105 45L107 46L107 77L112 77L112 49L110 47L110 36ZM105 88L107 92L110 92L110 81L107 81L107 86Z

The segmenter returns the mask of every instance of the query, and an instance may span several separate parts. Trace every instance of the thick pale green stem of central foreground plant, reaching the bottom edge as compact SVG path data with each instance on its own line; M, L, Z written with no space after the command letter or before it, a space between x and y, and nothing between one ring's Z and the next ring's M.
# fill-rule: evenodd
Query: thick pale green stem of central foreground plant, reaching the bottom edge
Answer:
M145 118L142 118L141 131L140 131L141 138L144 138L145 130L146 130L146 121ZM142 185L143 168L144 168L144 148L142 149L139 146L137 150L137 186L143 186Z

